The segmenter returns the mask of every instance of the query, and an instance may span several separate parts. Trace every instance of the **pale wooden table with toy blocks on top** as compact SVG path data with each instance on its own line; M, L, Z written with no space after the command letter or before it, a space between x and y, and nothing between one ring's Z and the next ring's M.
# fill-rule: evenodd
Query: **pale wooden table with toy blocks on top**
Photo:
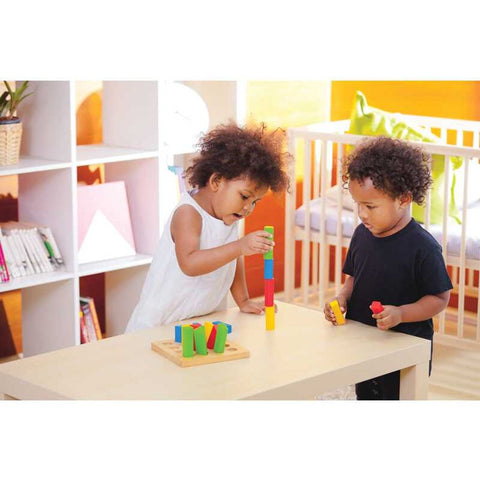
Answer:
M313 399L401 369L400 397L426 399L430 342L277 302L276 329L238 308L199 318L232 324L250 357L181 368L151 350L167 325L0 364L0 398L81 400ZM185 322L183 322L185 323Z

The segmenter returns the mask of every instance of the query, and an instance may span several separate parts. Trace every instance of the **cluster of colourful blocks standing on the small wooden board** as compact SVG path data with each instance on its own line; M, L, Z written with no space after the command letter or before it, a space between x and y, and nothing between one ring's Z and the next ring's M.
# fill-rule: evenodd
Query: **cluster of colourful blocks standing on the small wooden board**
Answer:
M223 353L227 334L231 331L231 325L219 321L205 322L205 325L198 322L175 325L175 342L182 344L184 357L193 357L195 352L198 355L208 355L208 349Z

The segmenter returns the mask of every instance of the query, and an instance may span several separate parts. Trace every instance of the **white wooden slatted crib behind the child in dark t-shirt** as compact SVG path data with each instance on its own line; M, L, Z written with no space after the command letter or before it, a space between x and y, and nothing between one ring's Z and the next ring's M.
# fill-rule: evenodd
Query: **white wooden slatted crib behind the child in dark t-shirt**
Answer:
M439 136L442 142L439 144L413 143L421 145L429 154L445 158L443 220L440 224L430 223L429 192L424 228L442 245L458 305L447 308L435 319L435 339L457 346L480 346L480 122L411 115L402 118L411 125L429 128ZM348 191L331 187L342 185L342 162L347 148L351 148L348 146L365 138L344 133L349 124L349 120L342 120L288 129L288 149L293 161L289 165L291 191L287 194L285 209L285 301L323 309L326 298L335 295L342 284L343 259L358 216L354 207L349 206ZM457 190L461 198L457 195L456 200L461 204L461 225L455 224L447 214L453 177L451 157L464 160L455 172L460 186ZM299 207L295 179L300 162L303 164L303 199ZM469 173L473 172L478 180L472 186ZM472 202L472 194L477 193L479 200ZM297 242L301 243L299 288L295 288ZM474 307L467 310L466 302L473 303Z

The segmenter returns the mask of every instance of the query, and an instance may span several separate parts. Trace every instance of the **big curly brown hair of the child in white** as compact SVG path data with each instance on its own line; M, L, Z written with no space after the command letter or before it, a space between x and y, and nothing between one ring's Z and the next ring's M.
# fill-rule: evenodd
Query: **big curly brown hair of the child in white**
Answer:
M289 187L284 151L284 130L267 131L264 123L239 127L236 123L222 124L205 134L199 141L199 153L185 171L193 187L204 187L214 173L226 180L248 177L274 192Z

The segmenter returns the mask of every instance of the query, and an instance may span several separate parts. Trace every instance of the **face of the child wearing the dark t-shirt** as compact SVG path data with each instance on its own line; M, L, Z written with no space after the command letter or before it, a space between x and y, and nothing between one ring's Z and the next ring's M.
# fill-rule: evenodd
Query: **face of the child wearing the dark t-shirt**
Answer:
M388 237L410 221L411 199L393 199L377 190L370 178L350 180L348 189L358 207L358 216L375 237Z

